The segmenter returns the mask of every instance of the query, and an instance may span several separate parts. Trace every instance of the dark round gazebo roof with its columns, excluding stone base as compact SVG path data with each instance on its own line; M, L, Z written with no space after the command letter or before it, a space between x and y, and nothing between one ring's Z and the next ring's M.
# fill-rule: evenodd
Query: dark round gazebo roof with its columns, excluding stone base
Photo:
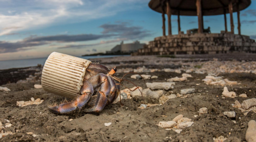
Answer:
M180 33L180 16L197 16L198 33L203 33L203 16L224 15L225 32L228 32L226 13L230 14L231 33L234 34L233 12L238 14L238 34L241 34L240 11L246 9L251 0L151 0L149 7L162 13L163 35L165 34L165 14L168 17L168 34L172 34L171 15L178 16L178 32Z

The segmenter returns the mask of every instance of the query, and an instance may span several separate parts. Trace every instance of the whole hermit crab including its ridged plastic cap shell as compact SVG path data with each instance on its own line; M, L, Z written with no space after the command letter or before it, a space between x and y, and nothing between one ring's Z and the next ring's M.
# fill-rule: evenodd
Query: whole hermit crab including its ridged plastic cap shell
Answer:
M53 52L44 64L42 87L45 91L74 100L49 106L49 109L60 114L83 107L86 107L85 111L88 113L100 112L118 97L121 85L124 86L121 82L128 81L123 77L129 73L119 79L114 75L116 71L116 67L109 70L106 66L86 59ZM138 88L136 86L130 91Z

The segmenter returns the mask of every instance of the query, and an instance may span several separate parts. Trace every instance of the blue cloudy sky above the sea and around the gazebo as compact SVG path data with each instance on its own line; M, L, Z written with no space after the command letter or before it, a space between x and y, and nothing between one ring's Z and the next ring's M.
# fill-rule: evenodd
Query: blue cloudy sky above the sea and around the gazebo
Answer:
M122 40L147 44L162 35L161 13L151 10L149 1L0 0L0 60L44 58L54 51L81 56L111 50ZM236 12L233 17L237 34ZM172 34L177 34L177 16L171 18ZM198 27L196 16L180 18L181 31ZM256 0L240 19L241 33L256 39ZM204 16L208 26L220 33L224 16Z

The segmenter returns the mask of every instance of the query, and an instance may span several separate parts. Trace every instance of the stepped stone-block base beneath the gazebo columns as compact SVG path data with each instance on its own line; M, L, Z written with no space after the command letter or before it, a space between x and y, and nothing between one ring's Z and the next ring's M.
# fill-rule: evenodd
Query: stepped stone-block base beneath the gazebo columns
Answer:
M156 37L132 55L256 53L255 40L231 33L195 33Z

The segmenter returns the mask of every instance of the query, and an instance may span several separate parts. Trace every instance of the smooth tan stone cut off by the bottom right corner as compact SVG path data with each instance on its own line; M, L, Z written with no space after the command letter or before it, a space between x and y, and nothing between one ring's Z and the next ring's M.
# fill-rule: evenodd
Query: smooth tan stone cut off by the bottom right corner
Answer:
M256 142L256 121L248 122L248 129L246 130L245 140L247 142Z

